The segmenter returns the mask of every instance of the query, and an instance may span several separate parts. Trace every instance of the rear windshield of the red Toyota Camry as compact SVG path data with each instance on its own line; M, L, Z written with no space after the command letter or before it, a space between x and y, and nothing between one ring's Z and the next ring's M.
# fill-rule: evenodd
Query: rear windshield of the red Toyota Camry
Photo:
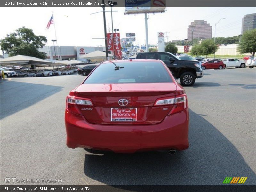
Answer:
M172 82L170 74L160 62L103 63L85 80L93 83L161 83Z

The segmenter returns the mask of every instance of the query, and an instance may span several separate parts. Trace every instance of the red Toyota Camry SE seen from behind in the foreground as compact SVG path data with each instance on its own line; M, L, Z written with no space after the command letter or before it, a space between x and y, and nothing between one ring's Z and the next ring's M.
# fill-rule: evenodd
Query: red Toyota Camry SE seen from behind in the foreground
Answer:
M105 61L67 96L67 146L116 153L188 143L188 100L160 60ZM89 149L89 150L88 150Z

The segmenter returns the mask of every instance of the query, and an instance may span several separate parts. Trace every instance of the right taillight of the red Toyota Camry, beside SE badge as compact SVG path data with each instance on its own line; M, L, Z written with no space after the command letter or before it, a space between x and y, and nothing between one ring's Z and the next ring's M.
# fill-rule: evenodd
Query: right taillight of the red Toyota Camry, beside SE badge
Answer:
M154 106L172 105L172 110L168 115L183 111L188 107L187 96L179 95L176 98L160 98L156 100Z

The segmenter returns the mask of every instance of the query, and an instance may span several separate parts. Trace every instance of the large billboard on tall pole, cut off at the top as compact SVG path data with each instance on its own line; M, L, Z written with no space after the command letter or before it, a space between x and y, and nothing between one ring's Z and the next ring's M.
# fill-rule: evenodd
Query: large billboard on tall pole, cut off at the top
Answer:
M125 14L165 12L166 0L125 0Z

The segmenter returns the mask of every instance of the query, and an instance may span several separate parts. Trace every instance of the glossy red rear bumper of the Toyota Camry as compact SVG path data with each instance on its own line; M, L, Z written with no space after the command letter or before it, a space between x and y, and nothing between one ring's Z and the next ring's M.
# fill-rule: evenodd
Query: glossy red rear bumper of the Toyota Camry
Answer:
M66 109L65 124L69 148L89 148L134 153L163 149L184 150L188 142L188 109L167 116L152 125L100 125L88 123L83 116Z

